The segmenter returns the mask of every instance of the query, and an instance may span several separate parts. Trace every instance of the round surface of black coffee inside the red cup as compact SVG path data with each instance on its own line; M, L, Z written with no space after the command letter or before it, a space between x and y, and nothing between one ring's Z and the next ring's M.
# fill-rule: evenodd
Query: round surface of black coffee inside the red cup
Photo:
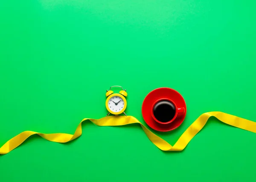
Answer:
M153 109L154 117L160 122L168 122L175 116L175 106L168 100L157 102Z

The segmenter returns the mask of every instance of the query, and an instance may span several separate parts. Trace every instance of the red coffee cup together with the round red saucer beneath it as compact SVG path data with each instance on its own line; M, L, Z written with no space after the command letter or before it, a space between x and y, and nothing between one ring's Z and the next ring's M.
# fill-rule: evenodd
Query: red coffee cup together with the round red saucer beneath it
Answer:
M172 131L186 117L186 103L172 88L156 88L145 97L142 115L149 127L156 131Z

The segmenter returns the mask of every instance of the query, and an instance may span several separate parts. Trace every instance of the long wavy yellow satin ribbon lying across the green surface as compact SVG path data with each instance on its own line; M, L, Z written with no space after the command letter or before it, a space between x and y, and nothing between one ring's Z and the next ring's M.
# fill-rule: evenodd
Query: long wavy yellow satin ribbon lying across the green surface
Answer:
M59 142L59 143L66 143L73 139L76 139L81 136L82 134L82 127L81 124L85 120L90 120L95 125L98 126L120 126L120 125L128 125L133 123L140 124L141 128L147 135L148 139L151 140L154 145L156 145L158 148L160 148L162 151L182 151L186 145L190 142L190 140L195 137L195 135L204 127L209 117L216 117L221 122L224 122L228 125L235 126L237 128L241 128L247 131L251 131L256 133L256 122L243 119L240 117L236 117L230 114L226 114L223 112L207 112L202 114L198 119L195 120L195 122L192 123L192 125L189 126L189 128L186 129L186 131L180 136L180 138L177 140L174 146L170 145L168 142L166 142L164 139L158 137L154 133L152 133L150 130L148 130L140 121L138 121L135 117L132 116L109 116L104 117L101 119L83 119L78 127L76 128L75 133L72 134L63 134L63 133L57 133L57 134L42 134L37 133L34 131L23 131L22 133L18 134L17 136L10 139L8 142L6 142L1 148L0 148L0 154L7 154L13 149L17 148L20 144L22 144L28 137L38 134L39 136L43 137L44 139L47 139L51 142Z

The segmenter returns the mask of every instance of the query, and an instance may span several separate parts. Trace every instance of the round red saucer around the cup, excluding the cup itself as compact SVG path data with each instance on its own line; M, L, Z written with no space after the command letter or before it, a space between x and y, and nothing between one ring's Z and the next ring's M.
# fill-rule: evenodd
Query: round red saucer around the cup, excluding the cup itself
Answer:
M172 100L178 108L184 108L184 113L180 114L179 117L169 124L160 124L156 122L151 115L151 108L154 102L159 99L166 98ZM172 88L157 88L151 91L144 99L142 105L142 115L145 122L149 127L156 131L172 131L179 127L181 123L184 121L186 116L186 103L183 97Z

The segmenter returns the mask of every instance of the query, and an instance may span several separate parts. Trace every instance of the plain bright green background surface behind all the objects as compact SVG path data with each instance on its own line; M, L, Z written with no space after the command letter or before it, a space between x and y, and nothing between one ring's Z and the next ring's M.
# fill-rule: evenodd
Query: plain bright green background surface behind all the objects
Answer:
M183 95L187 115L256 121L253 0L9 0L0 3L0 146L22 131L70 133L107 114L105 91L128 92L143 121L153 89ZM116 121L118 122L118 121ZM210 119L182 152L163 152L137 125L83 124L67 144L29 138L0 156L0 181L254 181L256 134Z

